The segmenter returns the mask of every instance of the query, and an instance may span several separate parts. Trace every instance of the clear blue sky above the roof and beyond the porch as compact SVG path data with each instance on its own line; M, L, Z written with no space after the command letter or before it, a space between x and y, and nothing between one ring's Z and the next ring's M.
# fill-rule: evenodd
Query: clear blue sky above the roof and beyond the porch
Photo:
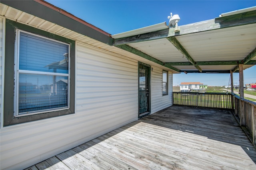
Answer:
M222 13L256 6L255 0L46 0L74 16L117 34L166 21L178 14L179 25L210 20ZM239 74L234 73L234 84ZM228 85L230 74L174 74L173 85L201 82L208 86ZM256 83L256 66L244 70L244 84Z

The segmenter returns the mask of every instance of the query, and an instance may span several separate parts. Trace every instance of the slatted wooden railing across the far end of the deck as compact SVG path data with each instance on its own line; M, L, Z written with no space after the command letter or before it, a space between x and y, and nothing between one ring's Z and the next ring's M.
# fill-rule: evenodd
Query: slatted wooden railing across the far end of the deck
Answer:
M173 92L173 104L232 109L230 93Z

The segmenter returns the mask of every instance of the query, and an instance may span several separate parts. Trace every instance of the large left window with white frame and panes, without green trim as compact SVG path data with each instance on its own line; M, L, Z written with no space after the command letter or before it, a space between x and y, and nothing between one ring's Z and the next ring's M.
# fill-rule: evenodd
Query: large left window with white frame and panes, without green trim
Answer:
M14 116L69 107L70 45L16 31Z

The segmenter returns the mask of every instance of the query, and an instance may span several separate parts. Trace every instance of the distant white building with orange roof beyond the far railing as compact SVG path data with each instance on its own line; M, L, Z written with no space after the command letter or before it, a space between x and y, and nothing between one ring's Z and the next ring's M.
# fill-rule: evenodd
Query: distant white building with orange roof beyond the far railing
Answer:
M204 85L200 82L182 82L180 84L180 91L181 92L191 92L191 91L197 91L197 92L205 92L207 89L207 85Z

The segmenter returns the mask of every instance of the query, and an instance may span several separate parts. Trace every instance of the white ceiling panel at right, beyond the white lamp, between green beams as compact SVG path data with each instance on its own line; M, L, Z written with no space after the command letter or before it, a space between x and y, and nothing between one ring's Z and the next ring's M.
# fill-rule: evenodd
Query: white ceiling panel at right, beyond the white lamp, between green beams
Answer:
M256 47L256 24L176 37L194 61L238 61Z

